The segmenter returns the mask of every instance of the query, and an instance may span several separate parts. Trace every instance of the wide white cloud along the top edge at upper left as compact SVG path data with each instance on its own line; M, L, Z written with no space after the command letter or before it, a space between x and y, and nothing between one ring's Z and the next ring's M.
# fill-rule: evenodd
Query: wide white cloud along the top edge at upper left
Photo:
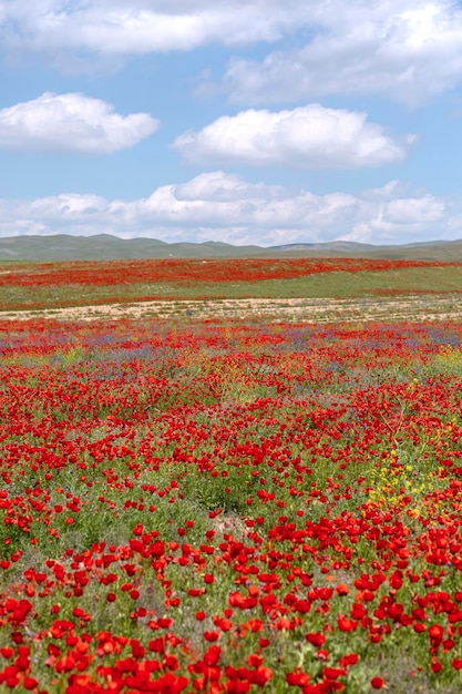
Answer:
M309 21L310 4L312 0L9 0L0 30L10 50L140 54L275 41Z

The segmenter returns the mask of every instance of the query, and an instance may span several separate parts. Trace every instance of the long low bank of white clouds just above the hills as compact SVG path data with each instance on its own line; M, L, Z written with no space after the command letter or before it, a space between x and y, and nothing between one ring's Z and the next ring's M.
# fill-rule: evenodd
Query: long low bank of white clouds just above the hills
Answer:
M461 237L462 198L407 193L397 182L360 195L315 195L217 171L132 202L72 193L0 200L0 236L63 232L259 245L339 238L402 244Z

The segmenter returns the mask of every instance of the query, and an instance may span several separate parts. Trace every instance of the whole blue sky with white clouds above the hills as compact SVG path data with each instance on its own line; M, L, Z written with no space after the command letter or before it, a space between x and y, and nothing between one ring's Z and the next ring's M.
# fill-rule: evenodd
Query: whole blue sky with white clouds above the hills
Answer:
M462 3L0 0L0 237L462 238Z

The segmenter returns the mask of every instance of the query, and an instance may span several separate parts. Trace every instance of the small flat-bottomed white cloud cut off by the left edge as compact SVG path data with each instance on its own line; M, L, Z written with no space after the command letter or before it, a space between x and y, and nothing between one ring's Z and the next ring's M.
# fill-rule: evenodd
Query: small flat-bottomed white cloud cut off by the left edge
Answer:
M52 94L0 111L0 149L107 154L157 130L147 113L123 116L99 99Z

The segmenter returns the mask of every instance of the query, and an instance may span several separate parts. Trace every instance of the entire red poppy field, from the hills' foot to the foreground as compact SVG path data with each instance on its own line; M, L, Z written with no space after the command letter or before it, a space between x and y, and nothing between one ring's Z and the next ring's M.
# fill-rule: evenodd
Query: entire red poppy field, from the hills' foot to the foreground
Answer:
M462 690L461 265L1 268L1 693Z

